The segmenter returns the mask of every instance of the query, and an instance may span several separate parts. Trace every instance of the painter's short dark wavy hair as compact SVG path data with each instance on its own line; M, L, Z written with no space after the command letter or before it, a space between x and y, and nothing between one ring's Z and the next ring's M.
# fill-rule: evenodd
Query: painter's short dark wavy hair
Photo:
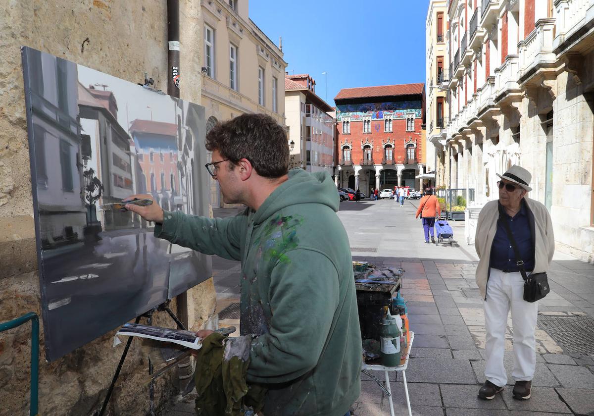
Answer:
M279 178L289 170L285 129L266 114L242 114L218 123L206 135L206 149L233 162L231 170L244 157L261 177Z

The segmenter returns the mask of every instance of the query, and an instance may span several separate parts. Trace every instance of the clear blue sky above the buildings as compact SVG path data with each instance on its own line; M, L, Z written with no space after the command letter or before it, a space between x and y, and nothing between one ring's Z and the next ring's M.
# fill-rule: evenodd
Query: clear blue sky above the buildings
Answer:
M429 0L251 0L249 17L279 42L289 74L308 73L334 105L340 89L425 81Z

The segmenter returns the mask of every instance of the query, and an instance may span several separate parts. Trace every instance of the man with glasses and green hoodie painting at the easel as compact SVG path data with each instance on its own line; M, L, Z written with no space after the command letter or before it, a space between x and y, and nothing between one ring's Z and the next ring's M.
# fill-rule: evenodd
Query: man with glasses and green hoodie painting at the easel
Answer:
M126 208L154 221L156 237L241 260L245 382L267 389L263 414L345 415L361 392L361 330L334 182L327 172L288 171L286 132L268 115L217 124L206 149L223 200L245 204L242 213L213 219L164 212L156 202ZM151 198L127 200L134 197Z

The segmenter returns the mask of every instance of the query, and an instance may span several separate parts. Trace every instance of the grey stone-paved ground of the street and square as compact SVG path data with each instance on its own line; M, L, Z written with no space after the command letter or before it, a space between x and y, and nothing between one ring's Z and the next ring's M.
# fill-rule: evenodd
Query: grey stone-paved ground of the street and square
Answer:
M341 203L339 212L353 259L406 270L402 295L410 329L415 332L406 371L413 415L594 415L594 326L590 320L594 317L594 266L555 254L549 270L551 293L539 302L533 396L522 402L511 398L513 327L508 317L505 367L509 385L492 401L482 401L476 396L485 380L484 316L474 281L478 259L474 247L464 241L464 222L450 222L458 241L453 247L425 244L421 222L414 218L417 206L418 200L407 201L402 208L391 200L347 201ZM222 304L238 298L233 280L237 264L213 259L217 298ZM576 330L551 335L551 322L583 322L582 339L571 339L579 334ZM382 373L375 376L383 379ZM401 376L390 373L390 377L396 412L405 415ZM389 414L387 400L377 384L362 375L362 393L352 414ZM164 414L193 413L190 397Z

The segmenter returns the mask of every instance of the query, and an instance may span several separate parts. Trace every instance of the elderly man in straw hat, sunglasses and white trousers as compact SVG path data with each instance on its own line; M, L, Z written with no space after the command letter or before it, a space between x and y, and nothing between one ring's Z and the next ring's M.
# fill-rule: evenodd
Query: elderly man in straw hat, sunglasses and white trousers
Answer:
M527 275L548 270L555 240L551 216L545 206L526 197L532 175L520 166L511 166L497 185L499 199L485 204L476 226L475 246L479 256L476 284L484 298L486 328L485 384L479 398L490 400L503 390L507 376L503 364L505 327L511 309L516 381L513 397L529 399L536 367L535 327L538 302L523 299L522 263L516 260L505 222L510 227Z

